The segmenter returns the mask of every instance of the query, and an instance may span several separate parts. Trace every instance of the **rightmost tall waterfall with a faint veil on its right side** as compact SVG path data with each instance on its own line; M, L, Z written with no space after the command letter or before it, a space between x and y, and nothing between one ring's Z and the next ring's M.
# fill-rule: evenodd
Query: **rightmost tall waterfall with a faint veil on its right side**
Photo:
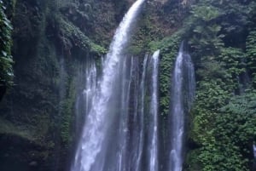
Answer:
M183 169L185 115L190 110L194 96L194 67L190 55L184 52L182 43L172 74L170 171Z

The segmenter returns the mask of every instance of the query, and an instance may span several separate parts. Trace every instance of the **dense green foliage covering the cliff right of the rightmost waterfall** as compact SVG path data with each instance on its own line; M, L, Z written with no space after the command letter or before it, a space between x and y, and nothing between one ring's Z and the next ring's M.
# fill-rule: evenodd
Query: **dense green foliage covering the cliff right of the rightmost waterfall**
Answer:
M254 26L254 7L252 1L201 0L184 21L197 78L189 132L196 148L189 151L186 170L239 171L252 166L256 121L249 104L255 104L255 28L247 40L245 35L247 27ZM246 71L253 87L237 95Z

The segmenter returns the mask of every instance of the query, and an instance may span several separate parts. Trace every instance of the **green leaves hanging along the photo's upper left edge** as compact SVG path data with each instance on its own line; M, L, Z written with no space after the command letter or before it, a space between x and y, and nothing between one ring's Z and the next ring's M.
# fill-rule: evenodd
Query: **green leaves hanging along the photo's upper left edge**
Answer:
M4 10L3 2L0 1L0 87L9 87L13 84L14 77L11 55L13 28Z

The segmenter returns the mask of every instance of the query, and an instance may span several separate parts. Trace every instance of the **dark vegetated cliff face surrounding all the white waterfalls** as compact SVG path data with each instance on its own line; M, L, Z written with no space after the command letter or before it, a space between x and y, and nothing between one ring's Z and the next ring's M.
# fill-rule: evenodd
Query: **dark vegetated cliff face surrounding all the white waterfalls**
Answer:
M0 102L0 170L68 168L79 71L91 58L100 60L107 53L115 28L133 2L3 1L8 7L3 12L14 27L15 77ZM197 95L188 123L186 170L229 170L230 163L234 170L253 166L255 7L249 0L149 0L143 7L127 51L139 57L160 48L164 145L170 74L183 39L195 62ZM0 88L2 96L5 88Z

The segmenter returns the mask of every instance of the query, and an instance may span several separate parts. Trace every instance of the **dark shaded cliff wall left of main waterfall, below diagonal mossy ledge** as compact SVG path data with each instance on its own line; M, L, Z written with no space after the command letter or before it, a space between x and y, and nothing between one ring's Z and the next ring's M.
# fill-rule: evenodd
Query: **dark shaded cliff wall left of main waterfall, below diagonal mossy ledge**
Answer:
M0 104L1 170L65 170L69 163L79 68L100 61L104 48L56 7L16 2L14 86Z

